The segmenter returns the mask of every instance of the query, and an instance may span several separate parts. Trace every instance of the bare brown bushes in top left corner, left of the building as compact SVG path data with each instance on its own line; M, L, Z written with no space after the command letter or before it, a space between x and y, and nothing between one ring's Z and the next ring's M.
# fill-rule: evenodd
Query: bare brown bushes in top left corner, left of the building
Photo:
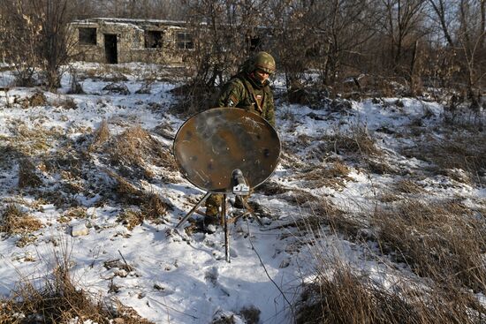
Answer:
M18 70L22 84L32 84L37 71L49 89L60 86L63 67L72 58L69 4L68 0L2 0L2 15L9 19L2 19L0 37L5 45L0 50Z

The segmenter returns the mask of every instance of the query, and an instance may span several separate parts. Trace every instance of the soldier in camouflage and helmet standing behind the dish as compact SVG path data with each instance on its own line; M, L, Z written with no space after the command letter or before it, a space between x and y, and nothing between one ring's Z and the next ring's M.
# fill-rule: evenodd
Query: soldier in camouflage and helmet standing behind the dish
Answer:
M224 85L216 106L246 109L262 116L275 127L275 108L269 81L270 75L274 72L274 58L267 52L258 52ZM207 224L218 222L218 209L222 200L223 196L220 194L212 194L206 200ZM242 202L237 199L234 207L243 207Z

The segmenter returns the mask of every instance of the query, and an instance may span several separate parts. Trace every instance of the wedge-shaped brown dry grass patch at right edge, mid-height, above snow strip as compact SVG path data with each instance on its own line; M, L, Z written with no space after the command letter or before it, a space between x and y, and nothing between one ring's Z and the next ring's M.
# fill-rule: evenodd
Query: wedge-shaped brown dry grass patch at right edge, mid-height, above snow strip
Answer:
M481 176L486 174L486 132L454 132L445 139L431 138L417 143L404 153L434 163L439 172L455 180L482 182ZM468 177L447 171L454 169L464 170Z

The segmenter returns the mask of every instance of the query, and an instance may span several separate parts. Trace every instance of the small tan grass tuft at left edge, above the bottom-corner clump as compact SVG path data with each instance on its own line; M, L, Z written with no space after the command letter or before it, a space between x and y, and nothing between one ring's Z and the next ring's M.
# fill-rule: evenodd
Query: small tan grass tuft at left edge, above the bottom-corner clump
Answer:
M41 221L22 212L15 205L9 205L5 208L0 221L0 231L7 235L28 234L43 227Z

